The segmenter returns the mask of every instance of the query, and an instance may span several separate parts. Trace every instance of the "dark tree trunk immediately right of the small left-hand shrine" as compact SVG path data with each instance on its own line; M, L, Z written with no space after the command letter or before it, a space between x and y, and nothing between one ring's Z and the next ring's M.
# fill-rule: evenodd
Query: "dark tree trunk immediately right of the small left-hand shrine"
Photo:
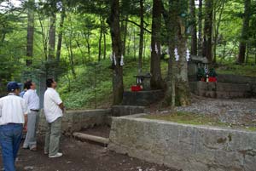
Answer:
M161 0L153 1L152 35L151 35L151 80L153 89L164 88L160 70L160 26L161 26Z

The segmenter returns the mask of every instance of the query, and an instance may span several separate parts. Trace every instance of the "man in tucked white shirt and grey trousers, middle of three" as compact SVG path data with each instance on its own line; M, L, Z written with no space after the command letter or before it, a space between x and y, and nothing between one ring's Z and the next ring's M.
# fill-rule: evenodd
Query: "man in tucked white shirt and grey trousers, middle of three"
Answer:
M23 148L37 151L37 128L39 121L39 97L36 90L36 83L29 80L25 83L26 93L23 99L26 101L29 110L27 114L27 132Z

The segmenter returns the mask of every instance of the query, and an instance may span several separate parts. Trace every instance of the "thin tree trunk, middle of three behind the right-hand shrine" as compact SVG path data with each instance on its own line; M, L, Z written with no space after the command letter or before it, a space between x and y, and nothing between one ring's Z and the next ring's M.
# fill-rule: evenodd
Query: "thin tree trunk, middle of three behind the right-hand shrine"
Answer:
M199 0L199 5L198 5L198 55L202 55L202 40L201 40L201 21L202 21L202 0Z

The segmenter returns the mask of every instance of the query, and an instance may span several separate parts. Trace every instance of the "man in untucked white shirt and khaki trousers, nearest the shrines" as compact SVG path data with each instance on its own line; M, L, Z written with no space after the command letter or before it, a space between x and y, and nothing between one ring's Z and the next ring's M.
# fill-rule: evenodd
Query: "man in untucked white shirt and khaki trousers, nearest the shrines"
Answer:
M53 78L46 80L47 89L44 93L44 114L48 123L48 129L44 140L44 154L49 157L61 157L59 152L61 138L61 117L64 105L55 88L57 83Z

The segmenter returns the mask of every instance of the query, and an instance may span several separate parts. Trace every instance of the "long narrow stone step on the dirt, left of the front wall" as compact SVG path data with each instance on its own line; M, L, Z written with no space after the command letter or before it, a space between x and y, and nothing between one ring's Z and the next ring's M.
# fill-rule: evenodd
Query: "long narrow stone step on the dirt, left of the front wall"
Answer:
M104 146L108 145L109 139L100 137L100 136L95 136L91 134L84 134L84 133L79 133L79 132L74 132L73 136L75 138L81 139L81 140L90 140L92 142L100 143Z

